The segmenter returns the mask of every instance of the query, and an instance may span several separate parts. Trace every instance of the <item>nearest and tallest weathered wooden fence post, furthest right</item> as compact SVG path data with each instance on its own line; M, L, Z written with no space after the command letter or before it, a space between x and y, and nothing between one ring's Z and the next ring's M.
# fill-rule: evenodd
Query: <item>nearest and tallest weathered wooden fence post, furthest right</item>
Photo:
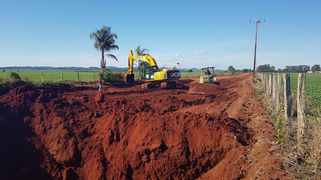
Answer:
M298 153L306 154L308 144L308 119L307 119L307 100L305 89L306 74L299 74L298 77Z

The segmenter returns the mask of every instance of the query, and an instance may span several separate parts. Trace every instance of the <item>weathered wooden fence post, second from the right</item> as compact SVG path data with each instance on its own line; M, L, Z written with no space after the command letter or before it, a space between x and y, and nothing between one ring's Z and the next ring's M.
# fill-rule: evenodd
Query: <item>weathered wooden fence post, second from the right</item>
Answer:
M291 117L291 83L290 74L283 74L283 87L284 87L284 117L288 119Z

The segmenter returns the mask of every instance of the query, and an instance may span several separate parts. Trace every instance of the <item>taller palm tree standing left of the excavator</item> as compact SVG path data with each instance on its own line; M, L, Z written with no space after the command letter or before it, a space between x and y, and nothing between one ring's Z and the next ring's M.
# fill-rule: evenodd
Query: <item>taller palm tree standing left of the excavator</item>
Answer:
M112 54L104 54L105 52L119 49L118 46L115 45L115 39L117 39L117 35L111 32L110 27L103 25L100 29L96 29L96 31L92 32L89 37L95 41L94 48L97 51L101 52L101 70L104 70L106 68L105 56L118 62L116 56Z

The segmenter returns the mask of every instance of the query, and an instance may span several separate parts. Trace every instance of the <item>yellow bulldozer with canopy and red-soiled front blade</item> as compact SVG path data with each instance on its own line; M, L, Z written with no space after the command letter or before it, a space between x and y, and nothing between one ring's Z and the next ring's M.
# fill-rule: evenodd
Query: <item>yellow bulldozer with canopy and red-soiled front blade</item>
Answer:
M188 93L192 94L215 94L216 91L221 90L220 83L216 81L215 67L201 68L201 76L199 82L189 84ZM212 73L211 71L212 70ZM203 71L205 71L203 73Z

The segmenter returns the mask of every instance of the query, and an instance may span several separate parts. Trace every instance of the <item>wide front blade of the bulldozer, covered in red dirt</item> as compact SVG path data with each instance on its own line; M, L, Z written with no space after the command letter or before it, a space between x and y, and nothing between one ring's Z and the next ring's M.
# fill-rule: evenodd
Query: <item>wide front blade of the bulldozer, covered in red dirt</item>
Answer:
M221 91L220 86L216 84L190 83L188 93L192 94L215 94Z

